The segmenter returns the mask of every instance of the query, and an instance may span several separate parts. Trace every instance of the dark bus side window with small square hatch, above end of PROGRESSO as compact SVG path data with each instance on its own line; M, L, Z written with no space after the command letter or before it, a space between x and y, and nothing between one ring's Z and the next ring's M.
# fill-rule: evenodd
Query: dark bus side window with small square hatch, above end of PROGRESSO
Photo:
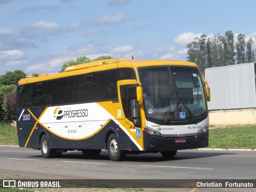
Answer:
M98 74L79 76L79 102L98 100Z

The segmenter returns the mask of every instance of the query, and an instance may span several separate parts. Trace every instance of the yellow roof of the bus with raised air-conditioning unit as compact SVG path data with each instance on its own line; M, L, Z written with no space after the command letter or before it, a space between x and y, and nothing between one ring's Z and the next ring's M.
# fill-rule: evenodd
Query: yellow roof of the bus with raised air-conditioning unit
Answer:
M129 59L108 59L99 60L79 65L67 67L66 70L58 74L40 74L36 76L26 76L26 78L20 79L19 85L40 82L50 79L62 78L67 76L73 76L78 74L114 69L114 68L138 68L143 66L163 66L163 65L180 65L180 66L196 66L195 63L186 61L174 61L174 60L129 60Z

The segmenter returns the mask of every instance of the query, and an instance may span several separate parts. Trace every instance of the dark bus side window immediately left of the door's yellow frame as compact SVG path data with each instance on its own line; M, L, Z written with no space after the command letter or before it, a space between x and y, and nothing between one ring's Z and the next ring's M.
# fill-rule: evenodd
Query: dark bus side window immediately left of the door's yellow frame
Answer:
M98 100L117 99L117 74L116 70L98 73Z

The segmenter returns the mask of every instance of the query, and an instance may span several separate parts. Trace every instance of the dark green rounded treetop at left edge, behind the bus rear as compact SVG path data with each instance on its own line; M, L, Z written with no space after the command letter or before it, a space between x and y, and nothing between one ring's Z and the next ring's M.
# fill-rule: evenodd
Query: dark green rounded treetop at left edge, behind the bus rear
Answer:
M0 76L0 85L16 85L20 79L26 76L21 70L15 70L14 72L8 71L6 74Z

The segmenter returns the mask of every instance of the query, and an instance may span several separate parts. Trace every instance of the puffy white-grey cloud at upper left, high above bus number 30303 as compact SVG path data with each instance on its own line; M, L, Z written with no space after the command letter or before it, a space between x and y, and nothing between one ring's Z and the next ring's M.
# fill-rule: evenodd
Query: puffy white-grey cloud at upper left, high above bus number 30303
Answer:
M60 25L57 22L46 22L40 21L38 23L27 26L22 29L20 33L27 37L37 37L37 36L45 36L45 35L54 35L63 32L60 28Z

